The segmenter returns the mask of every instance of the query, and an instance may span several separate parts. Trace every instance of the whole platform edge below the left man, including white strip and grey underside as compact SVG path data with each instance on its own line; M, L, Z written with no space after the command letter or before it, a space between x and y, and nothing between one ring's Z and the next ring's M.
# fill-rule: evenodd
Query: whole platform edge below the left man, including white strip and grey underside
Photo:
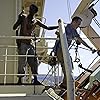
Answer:
M0 100L52 100L42 85L0 85Z

